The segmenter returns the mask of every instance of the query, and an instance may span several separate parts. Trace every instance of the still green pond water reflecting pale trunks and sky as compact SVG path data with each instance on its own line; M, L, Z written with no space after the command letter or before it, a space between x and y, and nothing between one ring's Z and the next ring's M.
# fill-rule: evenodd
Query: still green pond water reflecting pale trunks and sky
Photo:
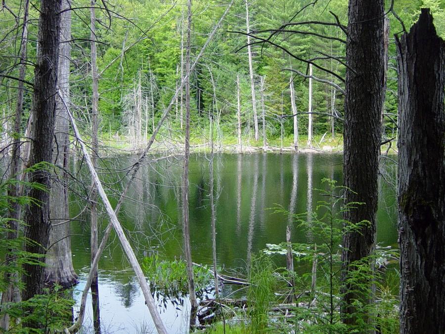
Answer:
M131 158L121 157L109 164L119 170L131 162ZM142 167L120 211L119 219L129 232L139 259L154 251L167 259L182 254L181 166L180 159L168 158ZM385 178L379 180L377 241L382 246L397 246L396 196L387 184L395 180L396 169L390 164L381 170ZM282 206L293 213L311 212L316 209L317 201L322 200L316 189L326 189L321 180L330 178L341 185L342 174L340 154L215 155L218 264L224 268L245 268L250 254L266 248L267 243L285 241L289 218L269 208ZM118 176L106 181L116 182ZM189 195L192 258L207 265L212 264L209 188L208 156L192 155ZM115 202L116 198L112 204ZM80 209L73 205L71 210L75 215ZM107 223L104 216L102 230ZM293 233L294 242L316 242L316 236L297 232ZM76 290L82 290L89 271L88 223L73 224L72 234L73 262L80 275ZM284 265L284 256L277 261ZM80 293L75 296L79 301ZM152 328L142 293L116 238L99 262L99 298L103 332L145 333L144 329ZM92 332L90 302L88 305L87 333ZM187 332L187 302L184 308L177 310L168 303L166 309L160 309L169 333Z

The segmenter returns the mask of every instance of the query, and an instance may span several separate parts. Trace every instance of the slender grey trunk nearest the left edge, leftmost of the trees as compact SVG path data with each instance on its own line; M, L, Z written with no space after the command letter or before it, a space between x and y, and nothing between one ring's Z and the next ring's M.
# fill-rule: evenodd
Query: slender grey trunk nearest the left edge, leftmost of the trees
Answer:
M12 131L16 134L21 134L21 119L23 114L23 93L24 93L24 83L25 79L25 71L26 71L26 50L27 50L27 38L28 38L28 8L29 8L29 0L25 0L23 4L23 31L22 31L22 40L20 44L20 69L19 69L19 79L18 89L17 89L17 103L15 107L15 115L14 115L14 127ZM21 139L17 136L11 146L11 162L9 165L9 178L18 179L18 175L21 173L20 166L20 143ZM7 234L7 238L12 240L16 239L18 236L18 221L21 216L21 205L18 201L14 200L17 196L19 196L20 186L18 184L11 184L8 187L8 198L9 201L9 212L8 212L8 228L10 232ZM9 250L10 253L6 254L5 261L8 262L12 260L13 255L12 249ZM18 274L14 273L6 273L4 277L5 282L7 282L8 286L1 294L1 303L0 303L0 311L3 310L5 304L9 302L18 302L20 301L20 291L17 286L17 282L19 280ZM0 328L3 330L9 329L9 315L4 314L0 318Z

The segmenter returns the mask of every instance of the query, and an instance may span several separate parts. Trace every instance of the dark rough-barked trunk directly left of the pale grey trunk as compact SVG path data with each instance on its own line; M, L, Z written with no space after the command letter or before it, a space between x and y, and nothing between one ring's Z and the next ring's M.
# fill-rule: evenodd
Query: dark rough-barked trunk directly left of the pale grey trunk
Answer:
M40 7L39 50L35 68L32 113L34 116L34 138L31 163L51 163L52 138L54 136L55 96L57 94L57 65L59 62L60 8L61 0L42 0ZM50 188L51 173L48 168L39 167L29 175L31 182ZM35 200L25 212L25 236L31 242L25 243L25 250L46 254L49 245L51 223L49 220L49 192L32 188L29 196ZM45 261L44 257L40 258ZM43 292L45 268L41 265L25 264L23 282L26 289L23 299L27 300ZM36 324L30 324L35 326Z

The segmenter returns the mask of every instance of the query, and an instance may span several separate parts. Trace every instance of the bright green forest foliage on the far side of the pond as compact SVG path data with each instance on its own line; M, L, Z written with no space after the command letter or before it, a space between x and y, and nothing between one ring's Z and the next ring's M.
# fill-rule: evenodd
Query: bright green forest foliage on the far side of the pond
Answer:
M220 18L228 1L193 2L193 23L191 32L191 61L193 62L200 48L205 43L213 25ZM312 59L317 66L313 67L313 75L322 80L332 81L344 87L342 79L345 77L345 44L339 40L346 40L344 32L336 26L317 24L315 22L335 23L336 19L331 11L336 14L343 25L347 25L347 0L314 1L307 6L308 1L273 1L254 0L249 1L250 25L255 35L267 39L274 45L255 44L252 46L253 67L255 73L255 87L257 96L257 109L261 114L259 76L265 76L265 109L267 139L275 143L281 135L281 116L291 113L289 77L293 76L296 104L299 112L308 111L308 79L292 73L285 68L292 68L302 73L308 72L308 64L303 59ZM8 7L15 13L19 13L20 2L8 2ZM389 9L390 3L387 4ZM91 108L91 76L89 64L89 1L82 0L76 3L79 8L73 11L72 22L72 62L71 62L71 99L72 110L84 122L79 126L88 133L90 128ZM98 3L97 7L102 4ZM99 113L101 129L104 138L112 138L116 135L127 135L128 99L137 82L138 73L152 77L156 83L154 104L154 123L157 124L164 108L170 102L171 97L180 80L181 70L181 41L186 41L186 1L129 1L117 0L110 4L112 17L104 9L96 9L96 33L98 46L98 70L99 70ZM304 10L301 10L305 7ZM398 0L394 1L394 10L404 22L406 29L417 20L420 7L430 7L435 17L435 25L441 36L445 34L445 7L440 0ZM301 10L301 11L300 11ZM35 19L38 12L30 9L30 18ZM223 143L234 143L236 139L236 75L241 81L241 121L243 141L252 138L253 113L252 98L250 92L250 78L248 71L247 38L240 33L245 32L245 3L235 1L222 27L208 46L205 56L200 60L196 69L191 73L191 138L193 143L208 141L209 115L219 113L218 131L215 136L220 136ZM298 15L296 15L298 13ZM12 15L4 11L5 19L0 22L0 31L4 36L18 34L18 30L11 30ZM20 15L19 15L20 16ZM392 39L395 33L402 31L400 21L390 12L389 33L389 69L388 91L385 102L385 117L383 124L383 137L395 138L397 136L397 73L395 71L396 50ZM292 32L274 32L281 25L293 22L308 22L301 25L289 26L286 29ZM8 35L9 34L9 35ZM35 41L37 25L30 25L30 45L28 54L34 59L36 52ZM316 36L318 35L318 36ZM18 37L18 35L17 35ZM252 40L255 42L255 40ZM17 76L18 66L16 61L17 48L12 39L1 41L4 57L0 58L1 73ZM243 48L244 47L244 48ZM292 53L293 58L285 50ZM183 50L184 51L184 50ZM185 55L185 52L183 52ZM330 56L333 56L332 58ZM31 68L30 68L31 69ZM332 73L337 73L339 78ZM148 75L151 72L150 75ZM214 89L211 76L216 83ZM26 80L32 82L32 71L27 71ZM4 79L4 84L15 86L13 79ZM145 90L147 86L144 87ZM12 94L11 94L12 93ZM333 106L333 95L335 102ZM2 88L0 95L4 104L6 116L13 113L14 90ZM325 114L332 113L332 109L342 117L344 96L338 90L326 83L313 82L312 109L322 114L313 115L313 133L322 136L330 132L330 117ZM169 137L180 138L179 111L181 101L178 100L178 108L175 106L168 117L166 126L161 129L161 134ZM183 101L182 101L183 104ZM25 92L25 115L31 105L31 92ZM150 124L151 103L150 105ZM300 114L299 132L301 136L307 135L308 115ZM25 125L26 119L23 120ZM335 119L335 132L342 132L342 121ZM147 127L151 133L151 127ZM260 129L262 129L260 117ZM283 136L290 137L293 134L293 122L291 118L283 121ZM142 128L145 132L145 127ZM145 138L145 133L141 134ZM121 138L128 141L128 138ZM303 140L301 142L304 142ZM249 141L256 145L254 141Z

